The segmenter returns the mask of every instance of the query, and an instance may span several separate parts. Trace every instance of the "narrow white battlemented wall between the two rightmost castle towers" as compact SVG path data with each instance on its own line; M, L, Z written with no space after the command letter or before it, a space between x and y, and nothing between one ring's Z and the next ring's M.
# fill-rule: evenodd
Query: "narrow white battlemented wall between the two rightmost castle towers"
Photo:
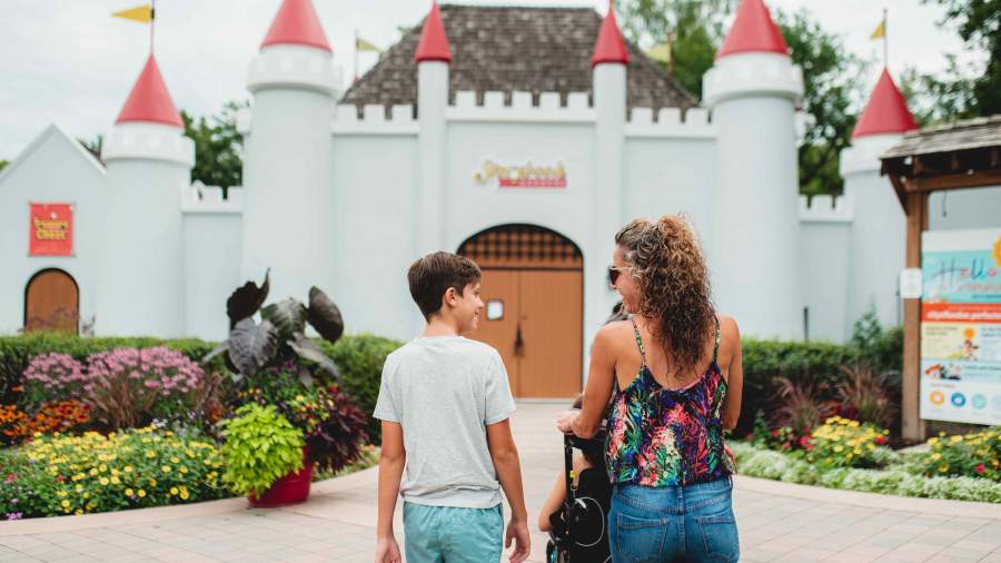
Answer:
M854 320L848 313L853 211L850 197L800 196L802 323L811 340L843 342Z

